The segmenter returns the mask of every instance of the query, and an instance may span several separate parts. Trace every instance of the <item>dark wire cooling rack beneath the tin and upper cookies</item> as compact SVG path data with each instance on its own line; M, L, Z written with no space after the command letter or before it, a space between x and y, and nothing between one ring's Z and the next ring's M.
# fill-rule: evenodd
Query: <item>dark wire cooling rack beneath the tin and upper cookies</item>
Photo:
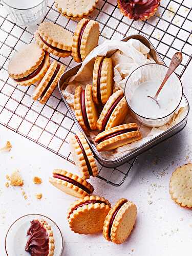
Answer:
M169 65L176 51L181 51L183 61L177 69L182 76L187 68L192 52L192 11L191 0L161 0L156 14L146 21L134 21L124 17L116 0L99 0L97 8L90 14L100 26L99 44L106 39L122 39L135 33L145 35ZM48 1L44 20L56 23L74 32L77 22L60 15L54 1ZM45 105L31 99L34 85L22 87L8 77L8 62L15 51L33 40L37 26L19 27L14 24L0 2L0 123L8 129L47 148L56 155L73 162L69 150L69 136L78 129L56 89ZM52 59L68 68L76 65L73 58ZM114 185L121 185L136 159L118 168L99 165L99 178Z

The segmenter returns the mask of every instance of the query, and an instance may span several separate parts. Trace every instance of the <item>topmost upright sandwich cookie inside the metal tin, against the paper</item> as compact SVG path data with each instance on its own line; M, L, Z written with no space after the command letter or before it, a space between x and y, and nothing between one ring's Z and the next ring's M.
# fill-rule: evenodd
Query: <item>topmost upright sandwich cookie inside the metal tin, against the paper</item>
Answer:
M113 93L113 63L111 58L98 56L93 69L93 100L105 104Z

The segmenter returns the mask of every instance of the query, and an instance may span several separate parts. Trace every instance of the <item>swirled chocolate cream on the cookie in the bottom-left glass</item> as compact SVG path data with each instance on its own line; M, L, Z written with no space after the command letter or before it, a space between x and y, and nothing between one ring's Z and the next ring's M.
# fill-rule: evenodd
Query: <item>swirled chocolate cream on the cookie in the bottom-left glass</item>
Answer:
M31 221L27 231L29 236L25 250L33 256L47 256L49 254L49 234L38 220Z

